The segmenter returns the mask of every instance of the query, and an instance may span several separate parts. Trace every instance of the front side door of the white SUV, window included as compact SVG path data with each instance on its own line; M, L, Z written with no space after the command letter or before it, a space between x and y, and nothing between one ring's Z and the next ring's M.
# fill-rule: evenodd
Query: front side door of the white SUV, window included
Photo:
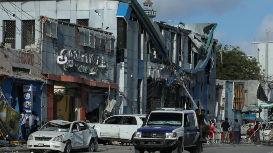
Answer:
M120 124L122 116L112 116L105 120L100 127L100 135L102 138L120 138Z

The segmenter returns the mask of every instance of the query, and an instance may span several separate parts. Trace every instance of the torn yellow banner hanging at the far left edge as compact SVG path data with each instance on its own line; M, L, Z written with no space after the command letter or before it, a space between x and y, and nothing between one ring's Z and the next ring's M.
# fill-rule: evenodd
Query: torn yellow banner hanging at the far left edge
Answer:
M19 121L21 118L15 109L13 109L9 103L3 98L0 99L0 119L1 119L1 129L9 134L9 139L17 141L19 137ZM3 124L2 124L3 123Z

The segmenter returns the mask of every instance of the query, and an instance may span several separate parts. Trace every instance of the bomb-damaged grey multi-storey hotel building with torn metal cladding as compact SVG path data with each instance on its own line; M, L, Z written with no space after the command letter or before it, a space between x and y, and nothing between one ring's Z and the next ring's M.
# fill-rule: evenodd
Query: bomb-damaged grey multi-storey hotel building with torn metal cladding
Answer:
M218 115L217 24L156 22L149 0L144 10L136 0L0 2L5 48L38 55L34 109L42 122L97 122L156 107Z

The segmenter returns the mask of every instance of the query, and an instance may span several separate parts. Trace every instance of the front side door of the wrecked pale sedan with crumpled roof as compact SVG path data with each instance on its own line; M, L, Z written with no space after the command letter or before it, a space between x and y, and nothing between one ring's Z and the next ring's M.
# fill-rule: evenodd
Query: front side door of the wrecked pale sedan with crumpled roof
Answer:
M72 147L83 146L83 135L78 122L72 125Z

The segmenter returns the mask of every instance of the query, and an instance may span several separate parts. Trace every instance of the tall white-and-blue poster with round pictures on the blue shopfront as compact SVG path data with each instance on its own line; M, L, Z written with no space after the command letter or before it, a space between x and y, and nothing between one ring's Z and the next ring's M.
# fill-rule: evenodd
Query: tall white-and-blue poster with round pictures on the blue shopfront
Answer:
M31 112L32 106L32 85L23 85L23 110Z

